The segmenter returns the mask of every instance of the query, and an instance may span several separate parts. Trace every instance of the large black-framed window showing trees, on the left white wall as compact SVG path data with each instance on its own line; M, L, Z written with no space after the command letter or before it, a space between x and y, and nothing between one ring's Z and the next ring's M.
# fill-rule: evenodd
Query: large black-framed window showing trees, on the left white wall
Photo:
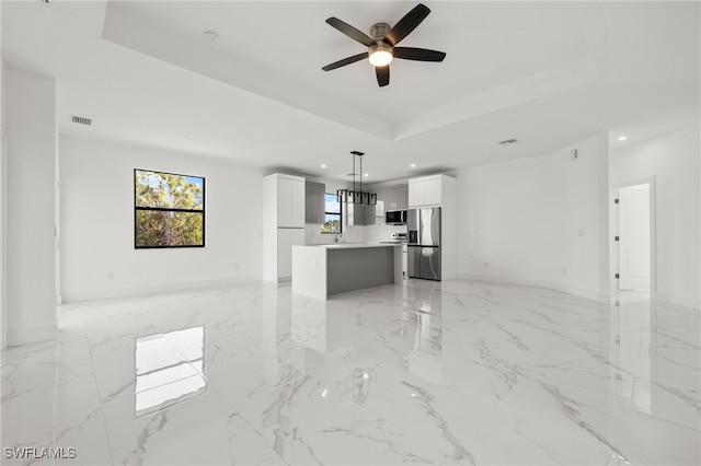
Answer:
M134 247L204 247L205 178L134 171Z

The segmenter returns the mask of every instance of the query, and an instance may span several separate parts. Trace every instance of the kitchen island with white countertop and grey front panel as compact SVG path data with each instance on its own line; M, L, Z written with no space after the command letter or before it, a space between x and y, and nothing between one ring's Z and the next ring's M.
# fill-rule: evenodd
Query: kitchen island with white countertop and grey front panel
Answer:
M326 300L390 283L402 283L401 244L292 246L292 293Z

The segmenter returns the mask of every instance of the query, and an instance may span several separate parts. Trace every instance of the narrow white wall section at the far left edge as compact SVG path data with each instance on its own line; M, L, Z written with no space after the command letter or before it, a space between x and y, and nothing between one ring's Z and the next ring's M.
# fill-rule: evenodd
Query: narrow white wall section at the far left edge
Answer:
M56 83L7 67L7 343L53 338Z

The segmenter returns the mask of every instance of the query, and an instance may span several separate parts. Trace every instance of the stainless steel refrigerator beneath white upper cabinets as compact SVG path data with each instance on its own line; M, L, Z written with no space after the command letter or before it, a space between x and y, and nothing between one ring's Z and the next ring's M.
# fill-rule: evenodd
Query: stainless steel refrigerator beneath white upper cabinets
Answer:
M409 277L440 280L440 208L410 209L406 226Z

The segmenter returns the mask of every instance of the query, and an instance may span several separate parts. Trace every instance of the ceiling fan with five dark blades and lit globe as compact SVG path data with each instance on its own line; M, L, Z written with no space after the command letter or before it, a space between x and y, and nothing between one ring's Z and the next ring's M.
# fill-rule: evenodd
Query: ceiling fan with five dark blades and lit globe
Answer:
M368 51L344 58L322 68L324 71L335 70L346 65L355 63L364 58L368 58L375 66L377 83L380 88L390 83L390 62L392 58L403 58L405 60L417 61L443 61L446 54L437 50L415 47L397 47L404 37L418 26L428 16L430 10L425 4L417 4L404 15L394 27L390 28L387 23L377 23L370 28L370 36L356 30L352 25L332 16L326 20L331 26L341 31L352 39L368 47Z

